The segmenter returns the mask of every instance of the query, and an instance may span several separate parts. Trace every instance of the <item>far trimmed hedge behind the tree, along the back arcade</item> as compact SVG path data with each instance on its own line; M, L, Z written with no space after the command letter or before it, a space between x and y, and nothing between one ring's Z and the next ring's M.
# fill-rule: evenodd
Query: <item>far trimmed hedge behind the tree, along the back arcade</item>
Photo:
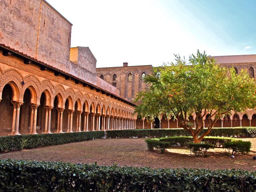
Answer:
M204 133L207 129L202 130ZM160 138L166 136L191 136L182 128L173 129L131 129L131 130L108 130L107 138ZM242 128L212 128L208 136L219 137L251 137L246 127Z

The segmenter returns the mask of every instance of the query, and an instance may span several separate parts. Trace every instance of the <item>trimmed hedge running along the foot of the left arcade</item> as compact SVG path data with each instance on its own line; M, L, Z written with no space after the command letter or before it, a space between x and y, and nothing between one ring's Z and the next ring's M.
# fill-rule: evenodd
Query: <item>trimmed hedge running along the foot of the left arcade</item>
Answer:
M103 138L104 136L104 131L1 136L0 153L64 143L81 142Z

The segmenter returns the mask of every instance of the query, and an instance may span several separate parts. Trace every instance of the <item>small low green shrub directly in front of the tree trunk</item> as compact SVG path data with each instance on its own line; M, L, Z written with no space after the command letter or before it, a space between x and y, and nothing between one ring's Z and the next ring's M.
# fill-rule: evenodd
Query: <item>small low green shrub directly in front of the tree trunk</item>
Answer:
M214 149L214 145L208 143L187 143L187 147L190 149L190 155L192 152L196 157L203 154L206 157L206 152L208 149Z

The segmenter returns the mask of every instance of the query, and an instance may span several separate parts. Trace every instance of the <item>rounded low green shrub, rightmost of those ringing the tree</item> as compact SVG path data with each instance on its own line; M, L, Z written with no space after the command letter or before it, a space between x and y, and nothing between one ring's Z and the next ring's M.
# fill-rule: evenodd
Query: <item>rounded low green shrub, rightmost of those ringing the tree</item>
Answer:
M227 148L229 152L232 150L232 155L236 153L248 153L250 152L251 146L252 143L250 141L242 140L225 142L223 144L223 147Z

